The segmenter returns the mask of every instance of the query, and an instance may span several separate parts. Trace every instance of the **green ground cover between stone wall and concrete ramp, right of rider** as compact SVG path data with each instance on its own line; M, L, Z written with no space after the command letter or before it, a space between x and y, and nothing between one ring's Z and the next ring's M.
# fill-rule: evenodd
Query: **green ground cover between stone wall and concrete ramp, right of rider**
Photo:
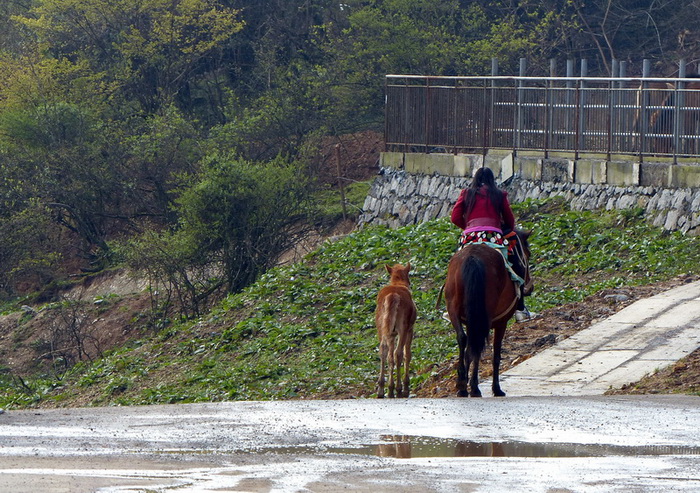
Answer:
M570 211L555 200L527 202L514 210L534 232L536 311L580 301L604 288L697 271L700 252L694 241L650 226L641 209Z

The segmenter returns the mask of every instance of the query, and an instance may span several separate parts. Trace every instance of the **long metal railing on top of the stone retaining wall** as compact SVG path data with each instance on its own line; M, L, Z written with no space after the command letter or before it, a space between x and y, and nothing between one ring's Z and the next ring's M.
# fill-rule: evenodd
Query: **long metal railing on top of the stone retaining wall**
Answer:
M700 79L386 76L399 152L700 156Z

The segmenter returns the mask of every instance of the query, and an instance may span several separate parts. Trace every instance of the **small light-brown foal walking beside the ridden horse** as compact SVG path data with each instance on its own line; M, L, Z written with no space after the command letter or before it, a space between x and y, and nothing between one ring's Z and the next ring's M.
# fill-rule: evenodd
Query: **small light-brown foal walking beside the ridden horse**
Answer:
M377 381L377 397L384 397L384 373L389 365L389 397L394 397L394 368L396 369L396 396L408 397L408 368L411 364L413 325L416 322L416 305L411 296L408 272L411 264L386 266L390 280L377 295L375 322L379 336L381 367ZM398 342L397 342L398 338ZM403 384L401 368L403 366Z

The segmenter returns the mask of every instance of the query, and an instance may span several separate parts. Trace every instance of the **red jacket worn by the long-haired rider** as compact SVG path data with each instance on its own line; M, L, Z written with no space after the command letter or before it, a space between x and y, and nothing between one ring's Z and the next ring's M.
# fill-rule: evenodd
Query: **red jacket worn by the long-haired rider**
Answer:
M486 195L485 189L482 187L476 193L474 207L472 207L469 217L464 217L467 189L462 190L459 194L457 203L452 209L452 222L462 228L464 231L501 231L501 225L507 229L515 229L515 216L508 202L508 192L502 191L503 202L501 203L501 214L496 212L491 200Z

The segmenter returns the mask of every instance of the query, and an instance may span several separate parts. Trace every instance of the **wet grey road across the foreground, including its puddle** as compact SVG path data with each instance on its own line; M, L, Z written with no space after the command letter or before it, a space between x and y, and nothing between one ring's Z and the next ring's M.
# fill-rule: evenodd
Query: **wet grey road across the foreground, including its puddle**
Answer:
M2 492L700 491L700 398L7 411Z

